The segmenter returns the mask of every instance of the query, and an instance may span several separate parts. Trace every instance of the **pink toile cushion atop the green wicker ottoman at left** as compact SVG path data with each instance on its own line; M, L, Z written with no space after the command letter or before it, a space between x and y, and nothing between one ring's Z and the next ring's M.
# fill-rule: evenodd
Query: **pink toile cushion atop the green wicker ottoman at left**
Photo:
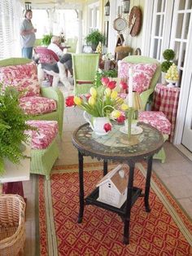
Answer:
M30 120L28 125L36 127L37 130L27 131L32 135L32 148L45 149L55 139L58 134L59 126L57 121Z

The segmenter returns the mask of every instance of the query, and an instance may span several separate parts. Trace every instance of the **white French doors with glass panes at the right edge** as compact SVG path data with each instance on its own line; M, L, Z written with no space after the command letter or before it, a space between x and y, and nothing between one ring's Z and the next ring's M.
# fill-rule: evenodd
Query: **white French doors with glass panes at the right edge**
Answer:
M151 4L153 4L153 20L150 55L162 62L162 53L165 49L172 49L176 53L174 62L179 69L178 85L181 86L181 95L174 142L183 143L191 151L192 0L154 0Z

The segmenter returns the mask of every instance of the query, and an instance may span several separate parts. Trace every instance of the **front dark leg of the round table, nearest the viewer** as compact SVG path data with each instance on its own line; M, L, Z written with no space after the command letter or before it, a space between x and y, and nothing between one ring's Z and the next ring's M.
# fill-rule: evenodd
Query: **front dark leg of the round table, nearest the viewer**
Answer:
M124 244L125 245L129 245L129 226L130 226L130 216L131 216L134 168L135 168L135 163L129 162L128 192L127 192L126 209L124 214Z

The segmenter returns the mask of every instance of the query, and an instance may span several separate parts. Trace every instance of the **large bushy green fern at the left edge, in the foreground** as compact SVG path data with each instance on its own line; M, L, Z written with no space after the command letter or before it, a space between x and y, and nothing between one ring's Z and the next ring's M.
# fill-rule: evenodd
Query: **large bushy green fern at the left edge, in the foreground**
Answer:
M20 93L14 87L7 86L2 90L0 83L0 174L5 172L4 161L7 159L19 164L23 156L21 143L28 142L24 130L31 130L26 124L29 119L19 105Z

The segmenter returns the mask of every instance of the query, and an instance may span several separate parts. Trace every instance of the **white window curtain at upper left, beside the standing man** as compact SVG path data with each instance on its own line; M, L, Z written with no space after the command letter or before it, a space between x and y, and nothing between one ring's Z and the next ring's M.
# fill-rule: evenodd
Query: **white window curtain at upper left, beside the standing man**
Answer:
M22 6L19 0L0 0L0 59L21 56L22 18Z

